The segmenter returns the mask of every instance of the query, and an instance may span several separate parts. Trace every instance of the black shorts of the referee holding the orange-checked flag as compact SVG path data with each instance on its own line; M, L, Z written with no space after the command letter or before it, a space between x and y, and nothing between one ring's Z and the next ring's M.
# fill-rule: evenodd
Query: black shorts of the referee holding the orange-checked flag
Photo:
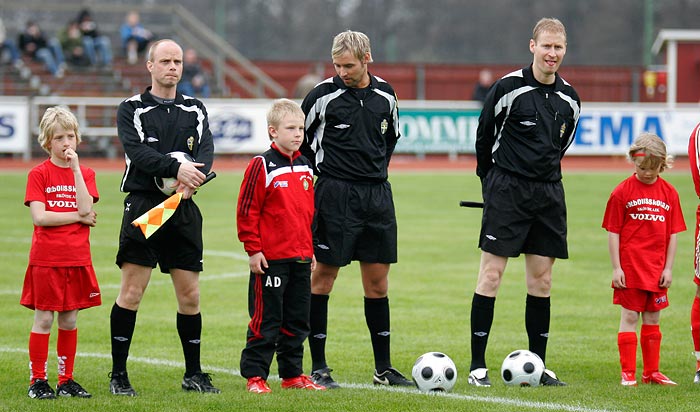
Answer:
M202 214L191 199L180 202L173 216L148 239L131 225L165 199L160 193L148 192L126 196L116 260L119 267L129 262L152 268L158 264L163 273L170 269L202 271Z

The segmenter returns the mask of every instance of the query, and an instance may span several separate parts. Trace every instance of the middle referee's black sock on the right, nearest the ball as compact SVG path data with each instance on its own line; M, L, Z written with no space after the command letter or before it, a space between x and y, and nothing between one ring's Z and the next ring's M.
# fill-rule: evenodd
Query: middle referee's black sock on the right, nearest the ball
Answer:
M389 298L365 298L365 320L372 337L374 368L381 373L391 367Z

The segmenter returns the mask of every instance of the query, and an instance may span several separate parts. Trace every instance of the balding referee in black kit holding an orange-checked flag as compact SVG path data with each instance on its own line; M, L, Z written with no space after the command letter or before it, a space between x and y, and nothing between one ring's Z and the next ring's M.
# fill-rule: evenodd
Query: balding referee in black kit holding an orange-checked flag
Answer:
M136 311L151 278L160 265L169 273L177 297L177 331L185 355L182 389L218 393L209 374L200 369L202 316L199 313L199 272L202 271L202 214L192 195L204 182L214 160L214 143L207 111L199 100L177 93L182 76L182 48L160 40L148 51L151 86L126 99L117 112L117 132L126 155L121 191L124 216L116 263L121 268L121 289L110 315L114 395L136 396L126 361L136 326ZM173 151L191 155L197 163L179 163L166 156ZM154 177L177 177L182 202L173 216L148 240L131 222L164 201Z

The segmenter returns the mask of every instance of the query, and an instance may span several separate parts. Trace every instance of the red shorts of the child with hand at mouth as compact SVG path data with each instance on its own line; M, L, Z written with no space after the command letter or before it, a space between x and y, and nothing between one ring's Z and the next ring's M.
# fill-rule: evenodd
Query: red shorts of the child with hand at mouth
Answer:
M29 265L19 301L29 309L67 312L102 304L95 269L90 266Z

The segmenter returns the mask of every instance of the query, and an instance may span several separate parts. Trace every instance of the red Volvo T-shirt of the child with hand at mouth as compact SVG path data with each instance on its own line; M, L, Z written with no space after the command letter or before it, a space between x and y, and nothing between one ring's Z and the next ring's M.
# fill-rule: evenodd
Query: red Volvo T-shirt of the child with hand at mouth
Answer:
M95 172L80 166L88 193L93 202L99 200ZM48 212L77 212L75 177L69 167L58 167L46 160L29 171L25 206L33 201L42 202ZM35 266L89 266L90 226L71 223L61 226L34 226L29 265Z

